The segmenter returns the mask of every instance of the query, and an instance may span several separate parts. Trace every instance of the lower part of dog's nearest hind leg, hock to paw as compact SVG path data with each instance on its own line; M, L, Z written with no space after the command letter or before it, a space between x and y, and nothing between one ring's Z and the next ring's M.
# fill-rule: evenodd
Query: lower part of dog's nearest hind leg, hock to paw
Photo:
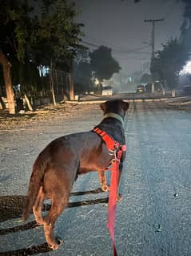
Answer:
M57 250L58 247L61 245L62 240L59 238L58 239L54 238L54 225L58 216L66 208L66 205L68 204L68 200L66 200L65 198L57 197L54 199L51 198L51 202L52 202L52 205L50 208L50 212L44 218L44 231L45 231L46 242L48 243L49 247L52 250Z

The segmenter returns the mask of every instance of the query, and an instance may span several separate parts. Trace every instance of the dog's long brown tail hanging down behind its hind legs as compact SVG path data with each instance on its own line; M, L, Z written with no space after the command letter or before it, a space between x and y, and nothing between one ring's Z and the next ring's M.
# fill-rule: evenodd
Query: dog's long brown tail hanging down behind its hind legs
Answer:
M26 219L30 216L30 213L32 212L34 202L38 195L38 190L42 185L43 177L48 165L47 159L49 159L49 157L46 157L46 152L42 151L34 162L33 172L30 177L28 194L26 197L26 204L22 212L22 221L26 221Z

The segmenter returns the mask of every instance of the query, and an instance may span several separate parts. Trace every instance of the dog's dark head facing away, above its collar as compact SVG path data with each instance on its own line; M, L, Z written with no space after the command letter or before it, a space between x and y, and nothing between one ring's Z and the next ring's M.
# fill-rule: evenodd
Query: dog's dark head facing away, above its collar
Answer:
M100 106L104 115L107 113L116 113L124 118L125 112L129 108L129 103L123 100L108 100L102 103Z

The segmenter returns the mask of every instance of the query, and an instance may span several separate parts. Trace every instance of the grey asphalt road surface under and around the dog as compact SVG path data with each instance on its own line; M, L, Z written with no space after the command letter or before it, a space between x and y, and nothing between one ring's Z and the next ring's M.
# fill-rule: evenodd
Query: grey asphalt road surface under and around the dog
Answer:
M59 250L48 250L32 215L26 225L19 222L38 152L55 137L89 130L101 119L97 106L82 108L71 110L72 119L61 115L48 123L0 131L0 255L112 255L106 228L108 194L98 189L97 173L74 184L69 208L55 229L64 240ZM131 104L125 134L123 200L116 217L118 255L190 256L191 113L159 103Z

